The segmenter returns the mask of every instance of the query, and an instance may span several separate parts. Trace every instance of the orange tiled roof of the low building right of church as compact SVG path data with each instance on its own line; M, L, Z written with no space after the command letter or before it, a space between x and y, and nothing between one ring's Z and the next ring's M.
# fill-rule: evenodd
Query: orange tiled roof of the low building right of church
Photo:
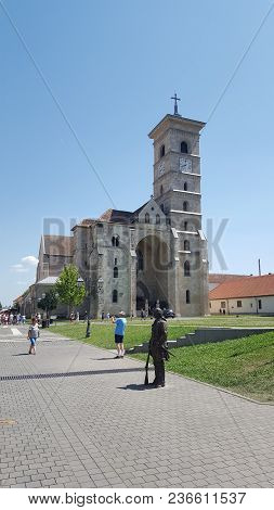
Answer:
M274 275L227 280L209 292L209 299L274 295Z

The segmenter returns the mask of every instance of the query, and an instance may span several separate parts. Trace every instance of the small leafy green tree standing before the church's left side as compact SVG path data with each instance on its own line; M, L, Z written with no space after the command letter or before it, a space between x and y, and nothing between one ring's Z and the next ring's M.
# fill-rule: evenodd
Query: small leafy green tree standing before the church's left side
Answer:
M78 306L86 297L86 288L79 284L79 271L76 266L65 266L55 283L58 301L68 305L69 316L74 306Z

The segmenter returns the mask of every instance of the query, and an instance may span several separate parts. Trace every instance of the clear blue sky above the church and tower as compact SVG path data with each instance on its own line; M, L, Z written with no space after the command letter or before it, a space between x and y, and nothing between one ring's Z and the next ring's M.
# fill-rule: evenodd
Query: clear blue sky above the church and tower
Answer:
M271 7L261 0L5 0L112 202L0 9L0 301L31 283L44 218L135 209L152 193L149 130L180 95L207 122ZM205 231L226 272L273 267L274 10L201 136ZM52 231L52 233L56 233ZM64 233L64 232L60 232ZM27 258L26 258L27 257ZM29 258L30 257L30 258ZM214 255L211 271L221 271Z

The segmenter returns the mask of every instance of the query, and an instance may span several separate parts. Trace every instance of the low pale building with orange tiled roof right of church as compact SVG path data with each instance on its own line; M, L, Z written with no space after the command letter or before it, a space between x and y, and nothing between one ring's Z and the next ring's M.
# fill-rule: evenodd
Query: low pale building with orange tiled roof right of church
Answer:
M224 281L209 292L211 314L274 315L274 275Z

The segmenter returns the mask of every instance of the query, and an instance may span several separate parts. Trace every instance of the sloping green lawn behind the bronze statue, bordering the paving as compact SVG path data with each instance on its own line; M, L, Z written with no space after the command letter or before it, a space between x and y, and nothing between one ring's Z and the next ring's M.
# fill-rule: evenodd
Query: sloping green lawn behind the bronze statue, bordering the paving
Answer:
M274 403L274 332L172 349L167 370ZM145 360L146 356L134 355Z

